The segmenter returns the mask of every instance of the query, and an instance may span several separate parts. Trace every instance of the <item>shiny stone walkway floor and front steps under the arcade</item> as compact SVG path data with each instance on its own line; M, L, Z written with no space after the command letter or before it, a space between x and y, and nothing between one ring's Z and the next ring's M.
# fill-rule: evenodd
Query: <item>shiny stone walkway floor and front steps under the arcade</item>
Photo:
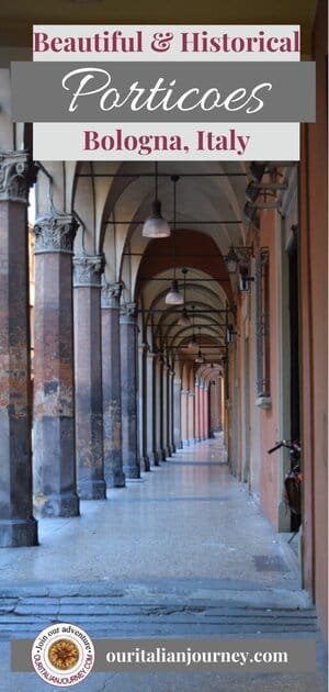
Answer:
M0 551L1 692L55 689L34 673L9 672L9 639L34 638L49 622L68 618L91 636L248 637L260 630L318 640L319 670L310 676L92 673L81 690L327 689L295 551L273 532L225 460L220 439L196 444L140 481L110 490L107 501L82 502L80 517L42 520L38 547ZM157 615L149 618L147 609L155 612L155 604ZM172 616L172 604L184 617ZM202 609L207 614L214 606L217 620L201 617ZM236 622L237 609L243 616ZM261 627L256 609L261 609Z

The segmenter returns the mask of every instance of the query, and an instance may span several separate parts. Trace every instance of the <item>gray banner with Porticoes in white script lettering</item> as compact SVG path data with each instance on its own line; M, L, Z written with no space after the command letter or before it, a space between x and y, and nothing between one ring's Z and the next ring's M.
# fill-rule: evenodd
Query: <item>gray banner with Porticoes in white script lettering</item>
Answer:
M69 72L79 75L67 78ZM103 72L97 70L104 70ZM103 88L110 75L110 83ZM314 63L12 63L13 119L19 122L313 122L315 120L315 64ZM90 78L89 78L90 76ZM66 86L63 87L63 80ZM88 81L84 91L100 89L99 93L80 96L77 109L69 111L75 91L82 79ZM156 87L158 80L163 91L154 96L154 105L166 96L164 89L172 88L172 99L168 108L173 105L186 91L189 93L182 104L190 109L197 99L209 89L213 91L205 99L204 110L201 105L182 112L178 107L172 110L159 108L150 111L146 108L132 110L132 98L112 110L102 111L100 99L106 89L115 89L120 93L120 102L129 93L131 86L145 89L143 100ZM174 83L173 83L174 81ZM172 86L170 87L170 83ZM260 85L271 85L261 87ZM102 91L101 91L102 89ZM246 90L246 93L240 91ZM217 91L220 98L217 98ZM229 108L223 104L232 92L238 93L230 101ZM116 92L112 91L105 99L107 108ZM253 92L253 96L251 96ZM137 92L134 92L137 96ZM259 101L263 105L258 109ZM141 103L141 97L140 101ZM218 107L211 108L213 103ZM222 105L219 105L222 103ZM138 105L138 103L137 103ZM240 110L237 110L241 107ZM254 112L248 112L253 110Z

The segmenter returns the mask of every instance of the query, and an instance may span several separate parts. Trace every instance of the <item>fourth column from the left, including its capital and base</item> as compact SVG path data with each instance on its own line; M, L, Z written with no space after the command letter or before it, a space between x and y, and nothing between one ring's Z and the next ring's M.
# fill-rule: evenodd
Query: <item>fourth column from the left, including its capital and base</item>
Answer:
M104 476L107 488L124 488L122 458L120 297L122 284L102 283L102 379Z

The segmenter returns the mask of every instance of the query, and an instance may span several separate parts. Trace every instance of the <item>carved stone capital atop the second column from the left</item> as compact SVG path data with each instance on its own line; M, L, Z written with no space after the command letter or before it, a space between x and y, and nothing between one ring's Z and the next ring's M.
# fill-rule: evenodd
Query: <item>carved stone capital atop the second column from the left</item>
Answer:
M34 254L68 253L72 255L78 222L72 214L47 215L37 219L34 226Z

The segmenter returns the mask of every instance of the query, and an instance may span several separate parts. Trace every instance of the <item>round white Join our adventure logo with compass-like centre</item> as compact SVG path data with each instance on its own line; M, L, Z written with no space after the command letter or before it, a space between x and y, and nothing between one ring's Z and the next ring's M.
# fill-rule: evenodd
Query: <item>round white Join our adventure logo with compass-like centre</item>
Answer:
M48 684L70 688L82 682L94 663L91 638L80 627L56 623L43 629L32 646L32 662Z

